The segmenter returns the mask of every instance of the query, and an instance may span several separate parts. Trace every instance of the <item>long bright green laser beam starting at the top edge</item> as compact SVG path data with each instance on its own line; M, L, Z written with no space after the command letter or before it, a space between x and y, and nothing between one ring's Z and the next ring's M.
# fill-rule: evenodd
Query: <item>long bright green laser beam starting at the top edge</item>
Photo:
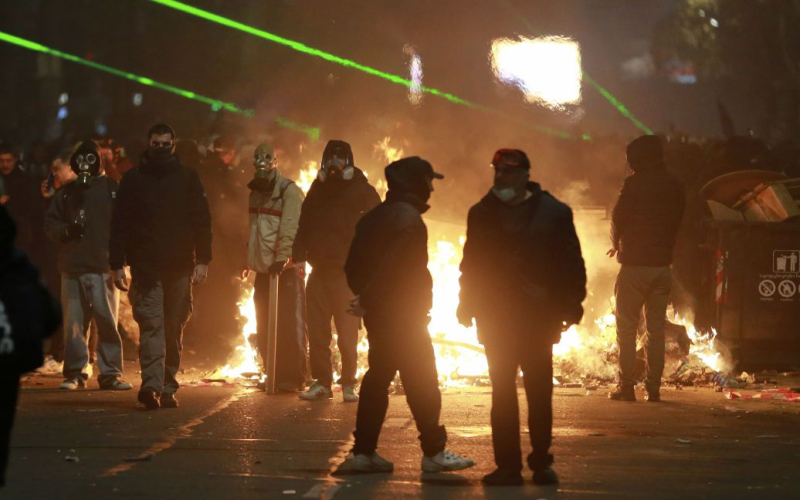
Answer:
M263 38L264 40L269 40L270 42L278 43L278 44L283 45L285 47L289 47L290 49L296 50L298 52L302 52L304 54L308 54L308 55L312 55L312 56L315 56L315 57L319 57L319 58L324 59L326 61L330 61L330 62L339 64L339 65L347 67L347 68L353 68L353 69L356 69L358 71L362 71L364 73L367 73L369 75L377 76L379 78L383 78L384 80L387 80L389 82L395 83L397 85L403 85L404 87L409 87L410 88L411 85L414 83L411 80L408 80L408 79L403 78L401 76L394 75L392 73L387 73L385 71L381 71L381 70L378 70L378 69L375 69L375 68L371 68L371 67L365 66L363 64L359 64L359 63L357 63L357 62L355 62L355 61L353 61L351 59L346 59L344 57L339 57L339 56L331 54L329 52L325 52L325 51L322 51L322 50L319 50L319 49L315 49L313 47L309 47L308 45L305 45L303 43L296 42L294 40L290 40L288 38L284 38L282 36L275 35L275 34L270 33L268 31L264 31L264 30L261 30L261 29L258 29L258 28L254 28L254 27L249 26L247 24L240 23L238 21L234 21L233 19L229 19L227 17L223 17L223 16L220 16L218 14L214 14L213 12L209 12L207 10L199 9L197 7L185 4L183 2L178 2L176 0L150 0L150 1L153 2L153 3L159 4L159 5L163 5L164 7L169 7L171 9L175 9L177 11L184 12L186 14L190 14L190 15L195 16L195 17L199 17L201 19L205 19L206 21L211 21L213 23L217 23L217 24L220 24L222 26L227 26L228 28L232 28L232 29L235 29L235 30L242 31L244 33L248 33L250 35L257 36L259 38ZM432 87L426 87L426 86L423 85L422 87L420 87L420 89L423 92L426 92L428 94L434 95L436 97L442 97L442 98L447 99L448 101L453 102L455 104L461 104L463 106L467 106L467 107L470 107L470 108L478 108L479 107L477 104L474 104L474 103L472 103L472 102L470 102L470 101L468 101L466 99L462 99L462 98L457 97L457 96L455 96L453 94L449 94L447 92L443 92L441 90L438 90L438 89L435 89L435 88L432 88Z

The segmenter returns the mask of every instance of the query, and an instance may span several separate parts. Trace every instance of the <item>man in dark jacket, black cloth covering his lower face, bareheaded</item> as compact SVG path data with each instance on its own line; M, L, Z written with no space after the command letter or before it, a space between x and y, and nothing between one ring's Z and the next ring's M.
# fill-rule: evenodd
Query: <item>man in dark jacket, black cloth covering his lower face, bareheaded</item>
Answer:
M175 156L175 131L147 134L149 147L120 181L111 218L109 263L114 284L128 291L139 324L142 386L148 409L177 408L176 379L183 329L192 313L192 285L205 282L211 261L211 214L197 172Z

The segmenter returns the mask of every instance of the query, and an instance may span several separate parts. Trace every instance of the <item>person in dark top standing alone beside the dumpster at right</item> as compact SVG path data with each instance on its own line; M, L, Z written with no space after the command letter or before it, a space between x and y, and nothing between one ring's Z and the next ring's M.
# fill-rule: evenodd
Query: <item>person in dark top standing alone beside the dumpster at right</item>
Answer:
M672 251L683 218L686 195L681 183L667 172L664 147L654 135L628 145L625 179L611 215L609 257L620 263L614 285L619 385L608 397L636 401L636 332L644 309L647 334L645 399L661 401L664 372L664 323L672 288Z

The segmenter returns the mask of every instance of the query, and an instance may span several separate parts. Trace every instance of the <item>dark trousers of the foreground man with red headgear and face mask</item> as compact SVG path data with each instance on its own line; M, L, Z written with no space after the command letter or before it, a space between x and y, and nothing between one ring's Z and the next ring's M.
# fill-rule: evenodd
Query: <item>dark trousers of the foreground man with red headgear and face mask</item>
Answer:
M507 332L500 332L506 334ZM550 336L542 336L550 338ZM553 345L547 341L497 340L485 343L489 377L492 380L492 444L494 460L501 469L522 470L517 373L522 368L528 400L528 429L533 451L531 470L550 466L553 456Z

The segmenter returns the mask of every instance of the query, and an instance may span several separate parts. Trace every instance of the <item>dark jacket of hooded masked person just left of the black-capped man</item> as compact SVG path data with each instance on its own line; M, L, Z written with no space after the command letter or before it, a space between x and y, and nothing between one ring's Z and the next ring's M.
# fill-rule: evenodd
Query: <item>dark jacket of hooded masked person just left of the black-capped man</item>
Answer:
M315 272L343 272L356 224L380 202L375 188L357 168L350 180L315 180L303 202L294 261L308 262Z

